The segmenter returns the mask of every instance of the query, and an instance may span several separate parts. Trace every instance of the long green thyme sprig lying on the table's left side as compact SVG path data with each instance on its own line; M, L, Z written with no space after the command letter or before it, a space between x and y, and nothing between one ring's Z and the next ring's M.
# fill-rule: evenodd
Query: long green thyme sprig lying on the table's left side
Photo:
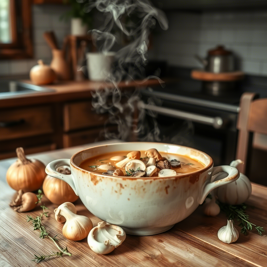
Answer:
M43 195L42 195L42 191L40 189L38 190L38 194L36 196L38 198L38 201L36 202L36 204L41 203L43 213L40 214L40 216L37 216L36 218L33 218L32 216L27 215L27 218L28 218L27 222L32 222L33 227L34 227L33 230L40 230L40 235L39 235L40 238L44 239L45 237L48 237L49 239L51 239L60 252L52 252L52 254L50 254L50 255L39 255L39 256L34 254L35 258L32 261L36 261L38 263L38 262L45 260L45 258L50 258L52 256L62 257L63 254L71 256L72 254L68 252L67 247L65 249L63 249L57 244L57 242L56 242L56 241L58 241L57 235L55 235L54 237L50 236L49 232L45 229L45 226L42 225L41 219L42 219L43 215L45 215L45 217L48 217L48 211L45 211L45 209L48 209L48 208L44 204L42 204L41 199L42 199Z

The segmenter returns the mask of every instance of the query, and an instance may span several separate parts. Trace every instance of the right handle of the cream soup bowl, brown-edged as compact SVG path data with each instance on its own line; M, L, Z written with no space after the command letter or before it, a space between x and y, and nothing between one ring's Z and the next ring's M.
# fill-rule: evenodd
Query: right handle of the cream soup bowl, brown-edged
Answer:
M215 182L206 182L203 186L203 191L202 191L203 193L202 193L202 197L201 197L199 204L202 204L204 202L207 195L213 189L215 189L221 185L234 182L235 180L237 180L239 178L239 175L240 175L239 171L235 167L228 166L228 165L217 166L217 167L213 167L211 181L213 181L215 178L214 176L220 172L226 172L228 174L227 177L225 177L221 180L215 181Z

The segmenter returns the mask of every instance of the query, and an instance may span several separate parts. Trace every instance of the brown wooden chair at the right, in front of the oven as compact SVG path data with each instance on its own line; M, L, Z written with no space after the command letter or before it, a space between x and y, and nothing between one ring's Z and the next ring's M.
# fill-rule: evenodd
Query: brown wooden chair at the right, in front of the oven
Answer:
M251 162L252 147L255 148L253 146L253 135L255 133L267 135L267 98L257 99L255 93L244 93L241 96L237 129L239 132L236 159L244 161L244 165L239 168L239 171L248 174L250 168L248 163Z

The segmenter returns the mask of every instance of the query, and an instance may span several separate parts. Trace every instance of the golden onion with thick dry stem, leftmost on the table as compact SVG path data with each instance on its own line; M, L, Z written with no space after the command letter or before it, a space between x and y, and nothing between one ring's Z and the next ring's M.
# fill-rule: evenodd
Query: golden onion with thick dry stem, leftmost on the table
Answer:
M22 147L16 149L18 159L6 173L6 181L16 191L32 192L39 189L45 179L45 165L36 159L27 159Z

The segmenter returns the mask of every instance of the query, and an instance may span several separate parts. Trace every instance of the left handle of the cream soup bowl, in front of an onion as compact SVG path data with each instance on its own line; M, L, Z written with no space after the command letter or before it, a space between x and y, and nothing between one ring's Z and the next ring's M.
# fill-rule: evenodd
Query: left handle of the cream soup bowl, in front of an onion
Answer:
M50 163L47 164L46 168L45 168L45 172L46 174L61 179L64 182L66 182L67 184L69 184L69 186L73 189L74 193L76 195L77 191L73 182L73 176L72 174L63 174L60 173L58 171L56 171L56 169L60 166L70 166L70 159L56 159Z

